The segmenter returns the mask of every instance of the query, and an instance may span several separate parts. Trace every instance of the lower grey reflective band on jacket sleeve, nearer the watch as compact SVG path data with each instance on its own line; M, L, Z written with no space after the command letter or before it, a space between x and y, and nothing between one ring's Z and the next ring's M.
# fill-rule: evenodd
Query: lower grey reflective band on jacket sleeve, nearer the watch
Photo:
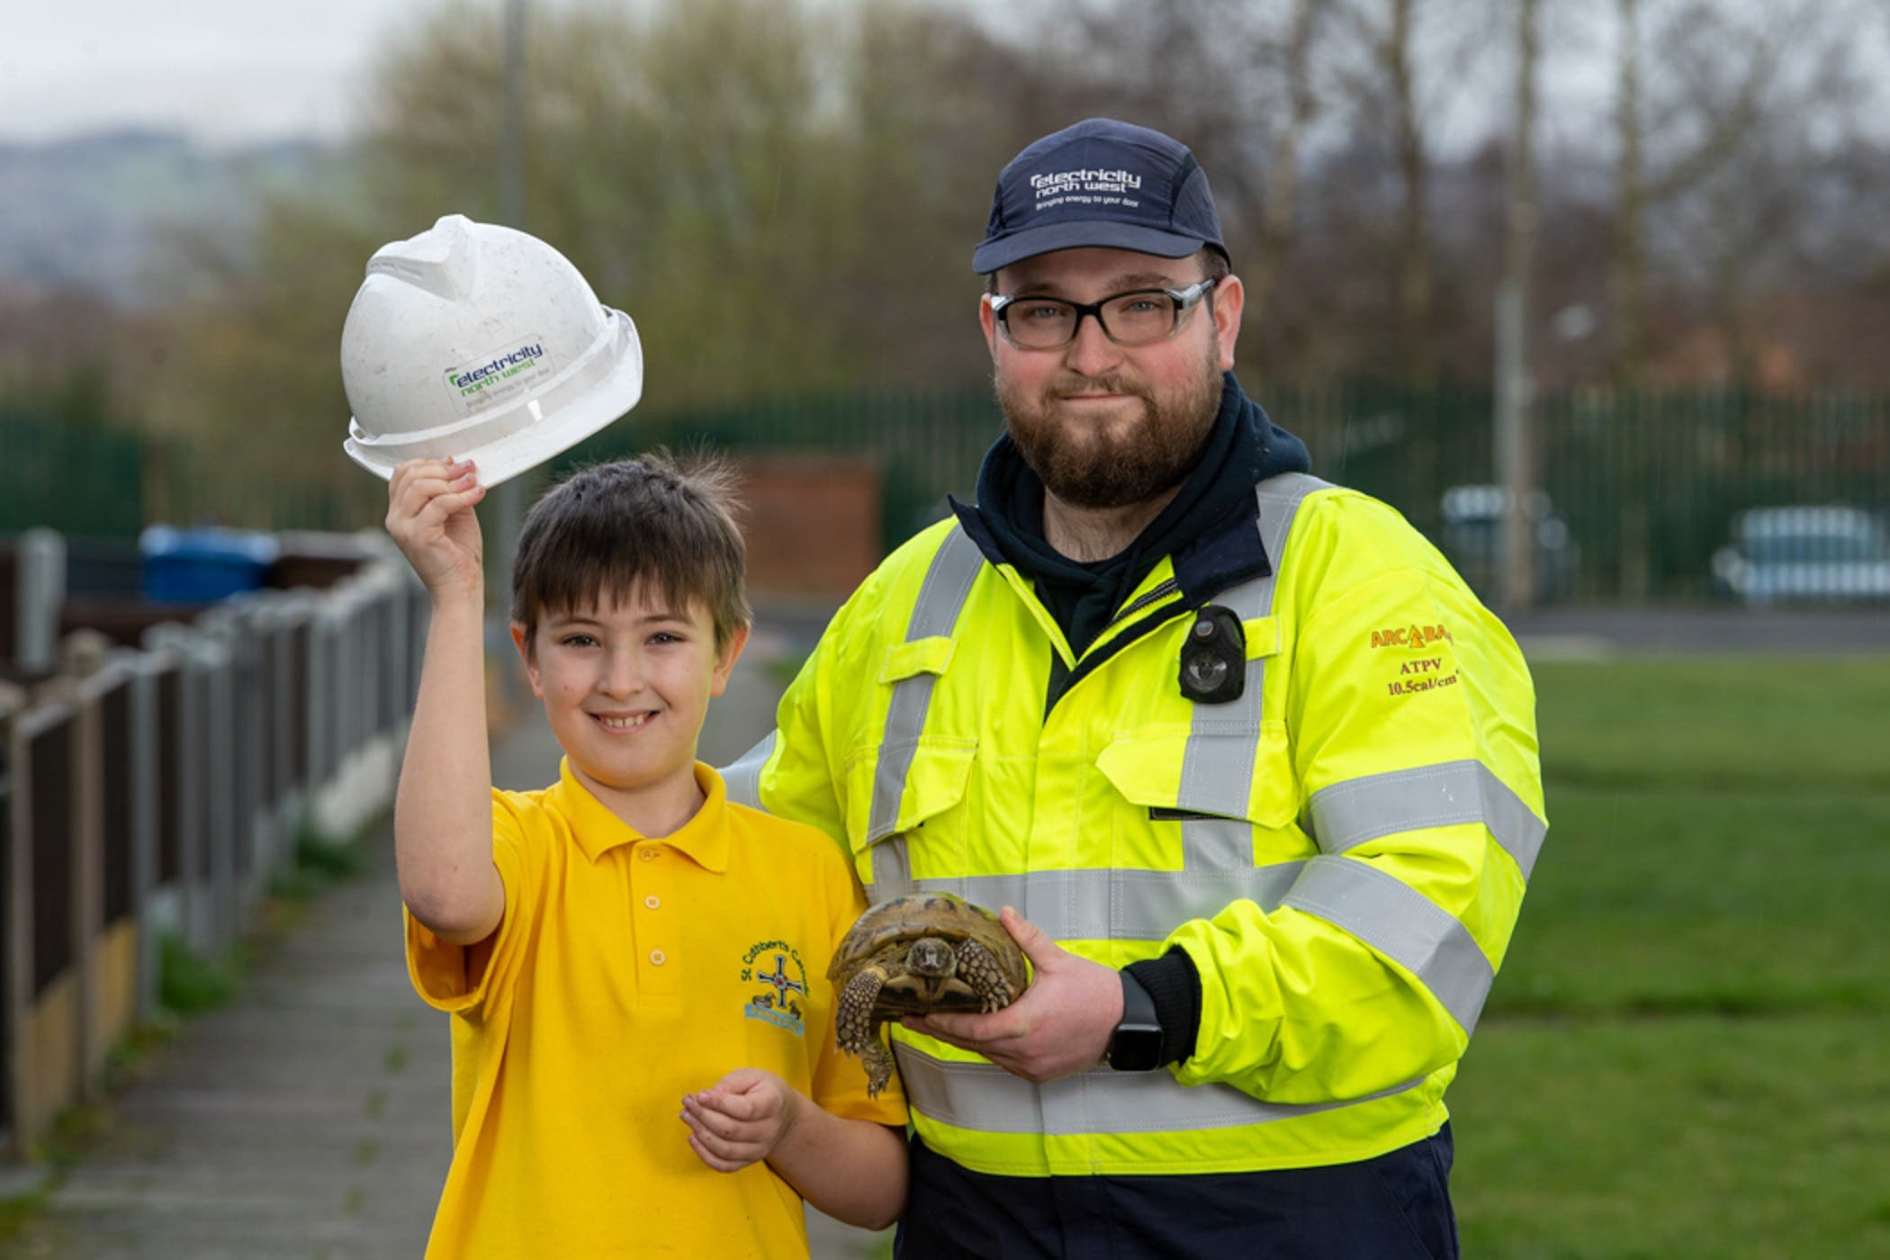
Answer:
M1317 914L1416 975L1469 1033L1497 979L1470 929L1410 884L1357 858L1306 863L1281 905Z

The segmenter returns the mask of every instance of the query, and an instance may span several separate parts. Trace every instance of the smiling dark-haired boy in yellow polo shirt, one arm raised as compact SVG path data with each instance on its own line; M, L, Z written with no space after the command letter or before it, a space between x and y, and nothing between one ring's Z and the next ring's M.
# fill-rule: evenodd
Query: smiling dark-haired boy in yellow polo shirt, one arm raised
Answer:
M486 746L484 487L444 459L389 484L433 603L395 803L408 971L454 1016L429 1256L805 1256L803 1198L903 1209L903 1099L837 1054L824 982L858 884L696 761L748 637L726 493L643 457L531 510L512 640L565 759L518 793Z

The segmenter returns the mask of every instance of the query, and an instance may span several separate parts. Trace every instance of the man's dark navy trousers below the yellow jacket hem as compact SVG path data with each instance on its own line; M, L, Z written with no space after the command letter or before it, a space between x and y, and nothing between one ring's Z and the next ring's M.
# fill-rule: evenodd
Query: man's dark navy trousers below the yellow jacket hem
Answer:
M1376 1160L1272 1173L988 1177L911 1139L898 1260L1457 1260L1450 1124Z

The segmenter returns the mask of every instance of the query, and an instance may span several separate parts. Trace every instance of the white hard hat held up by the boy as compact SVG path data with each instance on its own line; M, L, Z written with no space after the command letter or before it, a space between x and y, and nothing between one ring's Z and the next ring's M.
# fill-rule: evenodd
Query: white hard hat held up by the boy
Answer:
M452 455L497 485L633 408L643 346L565 255L450 213L369 259L342 325L342 450L369 472Z

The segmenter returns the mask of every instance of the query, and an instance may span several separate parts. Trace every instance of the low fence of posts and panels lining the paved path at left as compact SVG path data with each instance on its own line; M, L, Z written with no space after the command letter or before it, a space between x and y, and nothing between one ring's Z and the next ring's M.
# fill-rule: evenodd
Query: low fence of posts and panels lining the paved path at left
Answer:
M96 1088L157 1009L166 939L221 956L299 837L386 809L423 620L406 565L376 559L0 697L0 1150Z

